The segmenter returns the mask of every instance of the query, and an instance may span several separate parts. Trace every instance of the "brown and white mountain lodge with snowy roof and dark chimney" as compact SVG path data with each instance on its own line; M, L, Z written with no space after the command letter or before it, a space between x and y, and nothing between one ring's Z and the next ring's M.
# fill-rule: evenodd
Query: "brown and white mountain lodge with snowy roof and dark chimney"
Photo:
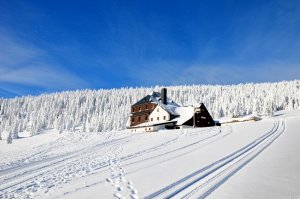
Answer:
M152 92L131 106L127 128L136 131L182 129L216 126L203 103L197 106L180 106L167 97L167 89Z

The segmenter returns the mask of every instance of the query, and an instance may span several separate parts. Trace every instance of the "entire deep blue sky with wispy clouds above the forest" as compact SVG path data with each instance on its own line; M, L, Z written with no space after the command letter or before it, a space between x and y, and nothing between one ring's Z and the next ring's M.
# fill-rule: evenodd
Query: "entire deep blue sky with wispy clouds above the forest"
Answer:
M0 97L300 77L300 1L0 0Z

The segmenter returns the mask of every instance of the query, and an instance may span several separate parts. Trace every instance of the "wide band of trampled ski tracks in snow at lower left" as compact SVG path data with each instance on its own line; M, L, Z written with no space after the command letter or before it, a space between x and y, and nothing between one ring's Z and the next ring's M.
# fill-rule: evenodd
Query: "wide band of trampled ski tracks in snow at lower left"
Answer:
M136 136L112 139L113 135L112 133L104 139L109 141L81 151L2 170L0 198L18 198L24 195L31 198L38 191L47 193L61 183L107 166L104 160L107 156L106 151L101 149L120 142L128 142Z

